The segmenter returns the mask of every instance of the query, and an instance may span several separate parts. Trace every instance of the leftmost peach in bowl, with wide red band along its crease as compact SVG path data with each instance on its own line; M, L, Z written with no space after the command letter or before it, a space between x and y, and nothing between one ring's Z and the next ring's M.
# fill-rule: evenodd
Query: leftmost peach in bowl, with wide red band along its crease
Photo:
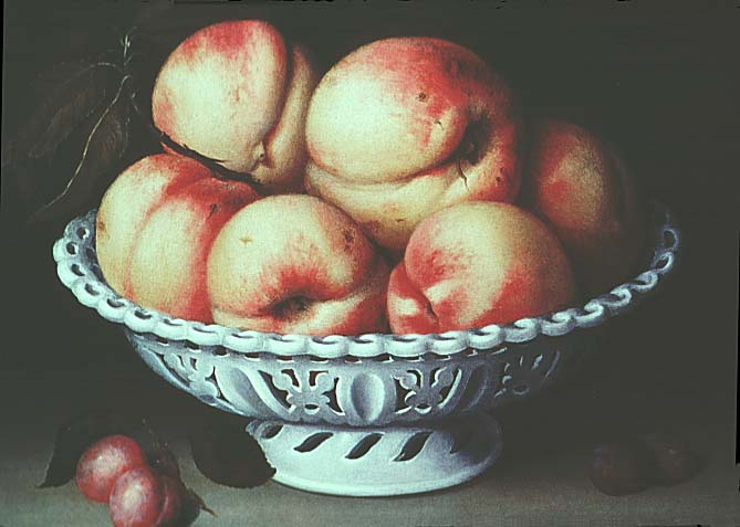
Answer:
M210 246L226 221L259 198L247 183L216 179L186 157L138 160L116 178L97 212L95 246L105 280L144 307L212 322Z

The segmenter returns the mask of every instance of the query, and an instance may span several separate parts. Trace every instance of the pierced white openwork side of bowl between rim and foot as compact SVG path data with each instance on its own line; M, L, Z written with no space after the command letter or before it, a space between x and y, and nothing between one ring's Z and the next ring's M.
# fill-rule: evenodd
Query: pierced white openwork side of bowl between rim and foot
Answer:
M127 335L149 367L207 404L252 418L353 426L440 419L531 397L554 378L561 349L577 347L563 337L562 347L534 340L449 356L325 361Z

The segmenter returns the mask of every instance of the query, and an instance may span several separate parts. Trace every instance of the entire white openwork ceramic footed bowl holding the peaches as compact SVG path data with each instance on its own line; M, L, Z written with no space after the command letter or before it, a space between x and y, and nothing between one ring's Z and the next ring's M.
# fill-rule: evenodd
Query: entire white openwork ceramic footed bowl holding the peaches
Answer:
M171 318L121 297L95 255L95 211L54 244L76 298L121 324L171 384L248 424L275 467L302 489L387 496L449 487L499 456L487 410L529 398L588 351L587 331L632 309L674 268L680 235L655 207L653 256L634 280L581 307L506 326L439 335L311 337L240 331Z

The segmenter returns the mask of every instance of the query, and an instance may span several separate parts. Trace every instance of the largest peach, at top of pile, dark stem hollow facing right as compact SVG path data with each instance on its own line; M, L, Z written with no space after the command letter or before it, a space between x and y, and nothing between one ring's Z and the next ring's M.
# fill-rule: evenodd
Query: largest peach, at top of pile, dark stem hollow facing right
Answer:
M513 201L520 131L511 89L469 50L428 38L372 42L314 92L306 190L402 250L444 207Z

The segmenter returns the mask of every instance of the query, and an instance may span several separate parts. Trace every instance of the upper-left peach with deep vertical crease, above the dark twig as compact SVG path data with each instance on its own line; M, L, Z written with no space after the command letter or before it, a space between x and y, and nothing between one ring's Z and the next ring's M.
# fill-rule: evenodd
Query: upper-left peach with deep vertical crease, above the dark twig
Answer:
M317 75L303 49L259 20L220 22L188 36L157 75L154 123L176 143L268 191L303 186L305 115Z

